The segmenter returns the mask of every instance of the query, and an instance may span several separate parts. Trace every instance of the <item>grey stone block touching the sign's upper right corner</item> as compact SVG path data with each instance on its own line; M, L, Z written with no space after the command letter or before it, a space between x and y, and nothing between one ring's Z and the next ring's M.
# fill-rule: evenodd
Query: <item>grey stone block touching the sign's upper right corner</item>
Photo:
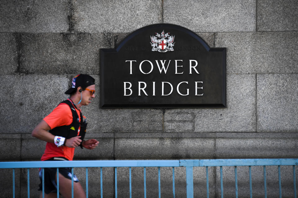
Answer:
M233 32L215 35L227 48L227 73L298 72L297 32Z

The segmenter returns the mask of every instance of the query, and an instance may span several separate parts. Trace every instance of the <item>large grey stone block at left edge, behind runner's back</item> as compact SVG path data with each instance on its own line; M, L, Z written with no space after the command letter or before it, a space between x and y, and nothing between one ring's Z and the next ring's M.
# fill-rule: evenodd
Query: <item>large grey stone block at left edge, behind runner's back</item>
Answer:
M2 75L4 95L0 120L2 134L31 133L61 101L68 89L64 75Z

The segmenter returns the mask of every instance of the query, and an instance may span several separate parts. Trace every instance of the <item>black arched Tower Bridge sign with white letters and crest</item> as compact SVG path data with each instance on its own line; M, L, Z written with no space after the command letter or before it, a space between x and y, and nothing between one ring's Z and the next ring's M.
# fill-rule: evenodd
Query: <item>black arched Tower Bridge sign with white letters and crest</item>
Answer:
M100 53L102 108L226 107L226 48L186 28L149 25Z

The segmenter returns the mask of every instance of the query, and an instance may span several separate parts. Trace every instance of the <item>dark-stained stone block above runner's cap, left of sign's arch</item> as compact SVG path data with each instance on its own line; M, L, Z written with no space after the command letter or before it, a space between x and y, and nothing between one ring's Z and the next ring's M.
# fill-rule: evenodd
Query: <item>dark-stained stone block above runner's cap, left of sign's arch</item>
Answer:
M99 49L110 34L21 34L22 73L99 74Z

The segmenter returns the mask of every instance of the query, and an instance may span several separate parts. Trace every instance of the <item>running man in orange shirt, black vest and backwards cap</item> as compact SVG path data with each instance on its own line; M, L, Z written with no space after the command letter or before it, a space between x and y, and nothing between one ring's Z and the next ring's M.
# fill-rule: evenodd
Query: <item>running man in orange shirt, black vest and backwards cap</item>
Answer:
M80 110L89 105L95 97L95 80L90 75L75 76L65 94L70 97L61 102L49 115L34 128L32 136L46 141L42 161L73 160L76 147L95 149L98 141L84 140L87 122ZM39 190L42 191L42 172L39 171ZM44 169L44 192L46 198L57 197L56 168ZM59 193L71 197L71 168L59 168ZM42 197L42 193L40 194ZM84 189L74 175L74 197L86 197Z

